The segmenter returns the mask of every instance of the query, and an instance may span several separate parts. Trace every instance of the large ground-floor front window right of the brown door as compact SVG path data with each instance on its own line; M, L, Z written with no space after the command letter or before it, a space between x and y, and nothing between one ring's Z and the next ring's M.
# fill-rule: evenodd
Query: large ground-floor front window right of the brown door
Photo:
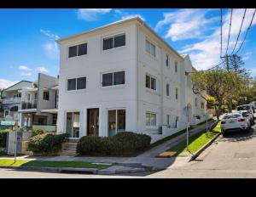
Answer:
M125 110L108 110L108 136L125 132Z

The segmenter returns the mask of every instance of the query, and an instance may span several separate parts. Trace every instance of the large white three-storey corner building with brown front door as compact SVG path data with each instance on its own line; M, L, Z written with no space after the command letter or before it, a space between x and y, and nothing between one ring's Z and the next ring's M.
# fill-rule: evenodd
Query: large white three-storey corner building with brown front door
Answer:
M187 104L192 106L191 124L199 122L194 115L206 112L195 108L198 95L186 75L193 70L189 56L177 53L140 18L57 42L59 133L81 138L143 132L154 142L186 127Z

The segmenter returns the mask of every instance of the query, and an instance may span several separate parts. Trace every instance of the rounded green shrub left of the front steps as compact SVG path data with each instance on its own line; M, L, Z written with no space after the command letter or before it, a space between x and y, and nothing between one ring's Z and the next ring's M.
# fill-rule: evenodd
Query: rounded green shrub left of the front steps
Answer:
M39 134L31 138L28 149L34 154L56 155L61 150L61 144L67 137L67 133L59 135Z

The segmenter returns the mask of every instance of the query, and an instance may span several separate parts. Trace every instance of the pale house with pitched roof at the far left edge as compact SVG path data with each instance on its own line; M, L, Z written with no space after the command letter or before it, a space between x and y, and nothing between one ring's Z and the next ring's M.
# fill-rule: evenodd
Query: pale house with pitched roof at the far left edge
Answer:
M32 82L20 81L15 85L3 90L3 120L19 121L18 110L21 109L21 89L22 87L32 87Z

